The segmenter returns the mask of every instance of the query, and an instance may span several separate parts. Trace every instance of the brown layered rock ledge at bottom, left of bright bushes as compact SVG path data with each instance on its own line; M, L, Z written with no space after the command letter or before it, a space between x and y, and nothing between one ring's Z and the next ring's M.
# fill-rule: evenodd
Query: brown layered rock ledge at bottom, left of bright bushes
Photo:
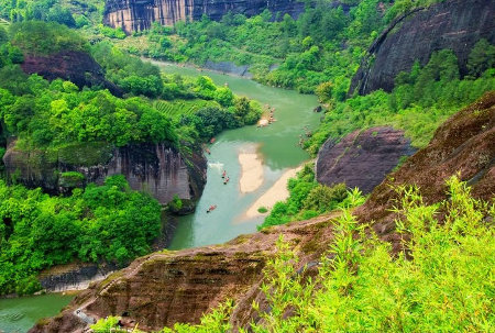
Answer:
M30 332L81 332L86 323L75 311L94 319L122 317L128 328L157 331L176 322L199 323L202 313L230 298L238 308L234 326L245 326L254 318L252 301L260 300L260 281L266 260L274 254L279 233L290 244L299 244L305 262L324 248L320 240L331 235L328 217L270 232L240 236L226 245L179 252L155 253L134 260L106 281L78 295L58 317L37 324ZM305 254L315 242L311 256Z

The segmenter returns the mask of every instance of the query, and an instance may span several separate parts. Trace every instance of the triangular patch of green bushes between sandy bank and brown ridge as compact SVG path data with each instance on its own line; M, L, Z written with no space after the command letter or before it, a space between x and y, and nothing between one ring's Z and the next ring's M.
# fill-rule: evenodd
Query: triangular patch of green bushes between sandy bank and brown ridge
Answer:
M301 221L318 217L342 207L356 207L364 202L358 189L348 190L345 184L333 187L318 184L315 179L314 164L306 164L296 178L287 184L289 197L278 201L258 229Z

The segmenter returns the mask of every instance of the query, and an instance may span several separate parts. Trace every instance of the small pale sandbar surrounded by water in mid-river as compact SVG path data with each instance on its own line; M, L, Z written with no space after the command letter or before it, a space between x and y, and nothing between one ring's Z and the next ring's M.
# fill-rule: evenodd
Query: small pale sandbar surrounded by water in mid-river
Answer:
M263 162L257 153L240 153L241 193L255 191L263 184Z

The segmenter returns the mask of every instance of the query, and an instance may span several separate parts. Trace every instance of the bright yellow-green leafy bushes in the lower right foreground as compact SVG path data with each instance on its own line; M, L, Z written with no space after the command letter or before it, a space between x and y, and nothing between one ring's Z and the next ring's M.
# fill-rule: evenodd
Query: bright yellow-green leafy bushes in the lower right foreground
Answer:
M391 244L365 233L349 210L333 220L334 242L315 278L297 273L293 244L280 237L261 286L267 304L253 302L262 320L251 323L250 332L491 332L495 235L484 219L495 217L495 206L473 199L455 177L448 186L450 199L430 206L417 189L397 189L404 217L397 226L405 236L404 252L395 256ZM199 325L161 332L228 332L233 310L228 301ZM118 320L92 328L120 332Z

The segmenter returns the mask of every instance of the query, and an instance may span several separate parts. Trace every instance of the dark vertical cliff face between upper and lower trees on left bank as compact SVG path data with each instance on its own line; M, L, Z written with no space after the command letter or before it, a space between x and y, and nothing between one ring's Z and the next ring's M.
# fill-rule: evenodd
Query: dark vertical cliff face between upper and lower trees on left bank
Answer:
M207 164L198 151L185 156L166 144L134 144L113 147L105 143L75 144L56 154L21 151L15 142L3 156L7 178L51 193L68 192L87 182L102 184L112 175L124 175L134 190L150 192L162 204L174 195L198 199L206 184ZM82 184L72 184L64 175L77 171Z

